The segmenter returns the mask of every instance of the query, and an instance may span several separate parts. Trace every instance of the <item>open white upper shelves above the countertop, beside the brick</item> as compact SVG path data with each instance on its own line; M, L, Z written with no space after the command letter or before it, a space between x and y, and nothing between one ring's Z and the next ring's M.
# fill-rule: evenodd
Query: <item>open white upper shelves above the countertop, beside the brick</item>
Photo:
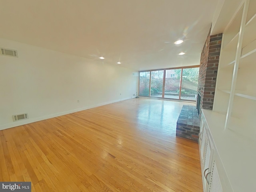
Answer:
M234 127L233 121L239 118L256 127L250 123L254 120L252 114L256 114L255 72L256 1L241 0L223 33L213 111L226 114L224 129L252 140L256 140L256 129Z

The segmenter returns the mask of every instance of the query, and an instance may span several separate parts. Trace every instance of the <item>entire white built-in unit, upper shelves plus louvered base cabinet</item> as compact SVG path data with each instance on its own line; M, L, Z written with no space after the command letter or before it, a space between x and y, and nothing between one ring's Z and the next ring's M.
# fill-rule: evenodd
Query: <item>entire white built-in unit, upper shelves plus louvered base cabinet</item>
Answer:
M218 167L225 192L256 191L256 0L240 2L229 10L233 16L222 36L214 106L202 110L206 128L200 127L200 140L206 130L213 145L209 169ZM203 157L206 146L199 144Z

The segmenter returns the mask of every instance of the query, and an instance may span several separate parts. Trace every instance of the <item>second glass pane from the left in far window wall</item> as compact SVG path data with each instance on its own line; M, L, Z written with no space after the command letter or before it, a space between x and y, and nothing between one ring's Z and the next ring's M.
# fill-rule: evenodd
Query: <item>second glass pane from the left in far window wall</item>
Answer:
M164 81L164 70L151 72L150 96L162 98L163 81Z

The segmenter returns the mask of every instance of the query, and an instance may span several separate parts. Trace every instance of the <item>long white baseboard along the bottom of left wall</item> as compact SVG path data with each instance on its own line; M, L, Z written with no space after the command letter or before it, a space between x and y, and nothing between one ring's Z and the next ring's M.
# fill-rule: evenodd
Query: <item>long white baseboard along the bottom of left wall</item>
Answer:
M50 118L54 118L54 117L58 117L58 116L62 116L62 115L70 114L70 113L75 113L78 111L83 111L86 109L95 108L95 107L99 107L99 106L103 106L103 105L107 105L107 104L111 104L111 103L116 103L116 102L120 102L120 101L124 101L124 100L128 100L128 99L133 99L133 98L135 98L135 97L133 96L130 98L123 98L123 99L119 99L119 100L114 100L114 101L110 101L110 102L104 102L104 103L100 103L100 104L96 104L96 105L72 109L72 110L59 112L59 113L55 113L55 114L50 114L50 115L46 115L46 116L36 117L36 118L32 118L32 119L26 119L26 120L22 120L22 121L18 121L18 122L12 122L12 123L8 123L8 124L0 125L0 130L17 127L17 126L21 126L21 125L25 125L25 124L29 124L29 123L34 123L37 121L42 121L42 120L46 120L46 119L50 119Z

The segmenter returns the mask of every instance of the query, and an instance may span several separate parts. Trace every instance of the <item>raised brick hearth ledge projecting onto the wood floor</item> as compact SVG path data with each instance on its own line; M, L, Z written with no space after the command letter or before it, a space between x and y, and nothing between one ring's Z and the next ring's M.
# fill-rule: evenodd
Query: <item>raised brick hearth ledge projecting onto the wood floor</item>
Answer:
M196 106L183 105L177 121L176 136L198 141L199 124Z

